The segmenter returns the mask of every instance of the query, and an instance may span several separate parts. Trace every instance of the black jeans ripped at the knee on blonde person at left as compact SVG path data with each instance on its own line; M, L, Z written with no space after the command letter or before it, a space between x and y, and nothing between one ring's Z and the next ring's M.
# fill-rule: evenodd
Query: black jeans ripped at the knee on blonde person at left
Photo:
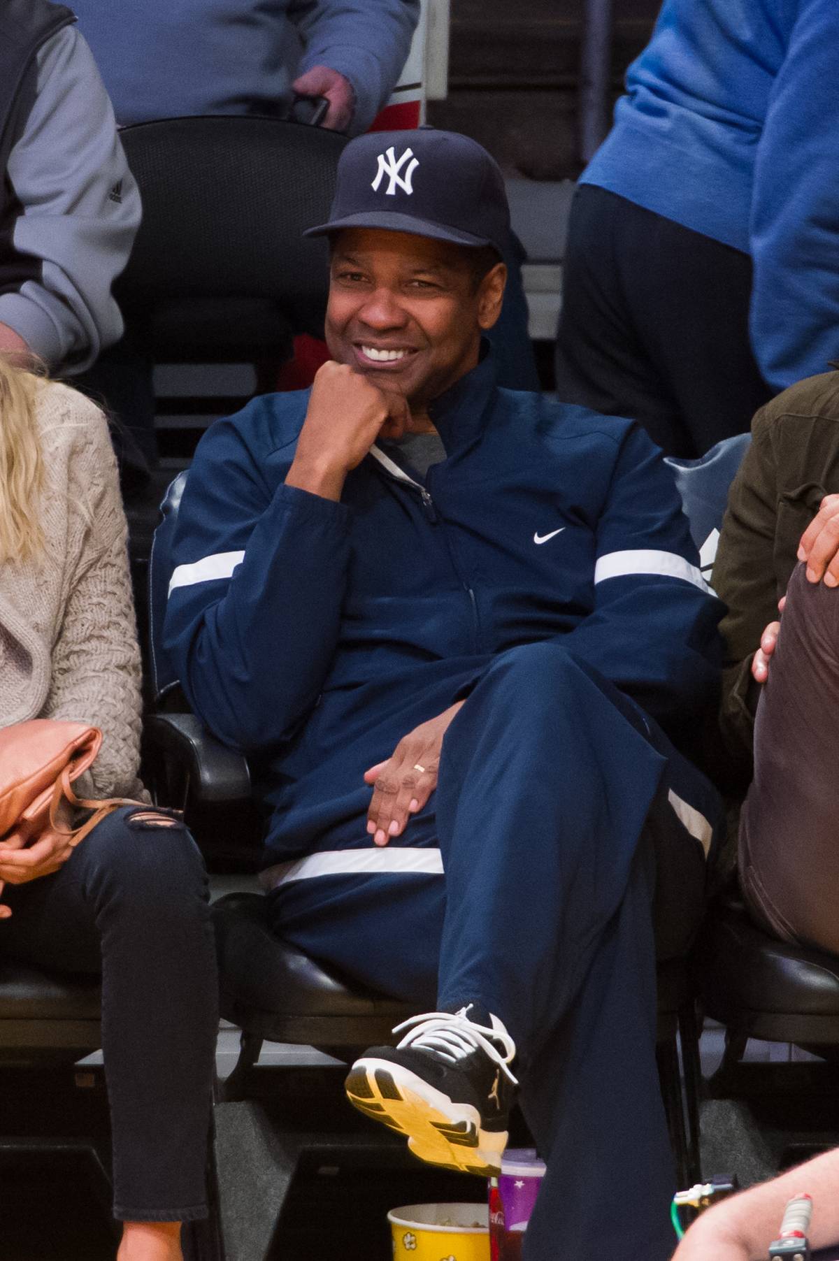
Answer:
M122 807L61 871L6 885L0 955L101 971L114 1214L188 1222L207 1216L216 955L201 854L183 823L155 813Z

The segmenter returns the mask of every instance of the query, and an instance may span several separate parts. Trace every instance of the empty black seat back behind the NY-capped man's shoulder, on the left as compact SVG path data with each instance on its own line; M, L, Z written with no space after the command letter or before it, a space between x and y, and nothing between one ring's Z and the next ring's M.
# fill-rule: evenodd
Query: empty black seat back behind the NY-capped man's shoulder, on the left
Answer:
M302 233L328 218L346 137L278 119L194 117L143 122L121 131L143 197L143 223L115 294L134 320L196 310L212 323L218 303L256 304L270 327L274 304L294 333L320 335L327 245ZM260 305L262 304L262 305ZM220 328L235 337L237 329ZM260 347L255 347L259 351ZM208 356L207 359L213 358Z

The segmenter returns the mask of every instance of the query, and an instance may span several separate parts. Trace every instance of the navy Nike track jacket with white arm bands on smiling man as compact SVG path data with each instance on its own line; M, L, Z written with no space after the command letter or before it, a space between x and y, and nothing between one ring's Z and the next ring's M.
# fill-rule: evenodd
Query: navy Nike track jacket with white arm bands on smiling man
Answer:
M275 855L368 845L363 772L517 644L560 639L665 726L714 702L722 605L631 421L501 390L488 358L431 407L428 485L373 449L334 503L284 484L307 402L202 439L164 625L194 711L257 754Z

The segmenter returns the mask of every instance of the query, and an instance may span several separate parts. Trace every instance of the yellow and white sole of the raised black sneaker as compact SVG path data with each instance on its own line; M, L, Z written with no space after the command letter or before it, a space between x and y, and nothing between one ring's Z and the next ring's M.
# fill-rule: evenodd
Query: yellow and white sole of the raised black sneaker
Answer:
M455 1103L409 1068L387 1059L358 1059L344 1090L365 1116L404 1134L420 1160L478 1178L501 1173L507 1131L482 1130L476 1107Z

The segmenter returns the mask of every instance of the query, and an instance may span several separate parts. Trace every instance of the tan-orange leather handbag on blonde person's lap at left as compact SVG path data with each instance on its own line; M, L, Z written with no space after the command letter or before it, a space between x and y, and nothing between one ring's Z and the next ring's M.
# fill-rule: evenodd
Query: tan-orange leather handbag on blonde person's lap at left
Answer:
M126 805L121 797L85 801L71 784L95 762L102 733L85 723L35 718L0 729L0 841L24 849L49 832L78 845L106 815ZM79 827L66 827L72 808L93 813Z

